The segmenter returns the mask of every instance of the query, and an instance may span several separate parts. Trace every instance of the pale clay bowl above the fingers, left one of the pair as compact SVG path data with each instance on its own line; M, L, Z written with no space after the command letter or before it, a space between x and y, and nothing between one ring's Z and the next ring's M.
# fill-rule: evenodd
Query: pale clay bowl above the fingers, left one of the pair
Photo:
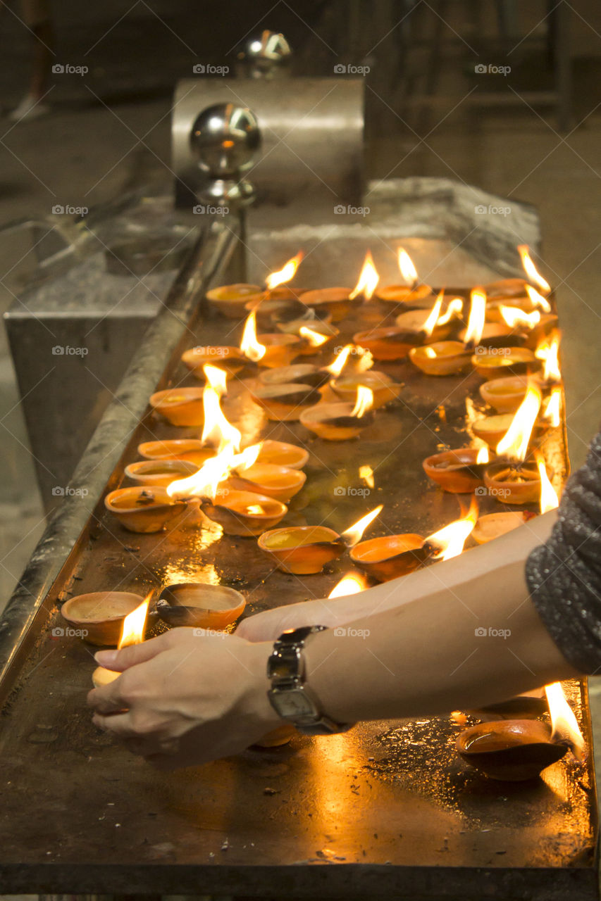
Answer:
M60 615L84 641L97 647L116 645L127 614L143 603L143 597L129 591L93 591L70 597L60 607Z

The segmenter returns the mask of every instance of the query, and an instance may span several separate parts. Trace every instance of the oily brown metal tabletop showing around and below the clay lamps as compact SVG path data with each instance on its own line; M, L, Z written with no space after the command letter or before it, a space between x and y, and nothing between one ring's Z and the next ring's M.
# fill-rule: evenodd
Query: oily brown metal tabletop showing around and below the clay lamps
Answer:
M364 312L367 308L363 308ZM348 333L360 322L344 323ZM208 311L187 346L219 343L231 322ZM237 325L234 338L240 337ZM343 343L343 333L339 343ZM198 384L173 355L160 384ZM329 354L326 354L329 356ZM343 529L384 502L370 536L427 534L458 516L458 499L431 486L421 460L441 443L466 442L480 379L425 378L408 361L378 364L404 383L360 441L311 438L299 423L267 423L236 378L225 403L245 441L306 443L308 480L284 523ZM245 375L244 373L242 374ZM477 406L476 401L476 406ZM471 407L470 407L471 409ZM198 430L147 414L111 479L151 435ZM558 481L565 434L545 452ZM375 470L367 498L358 467ZM494 498L482 509L497 509ZM571 757L529 784L487 780L454 751L461 728L448 717L362 724L331 738L296 737L270 751L157 775L90 722L85 695L92 651L53 637L58 603L88 590L200 579L247 598L246 613L324 596L349 569L293 577L273 570L254 539L218 539L195 514L169 532L125 532L98 506L27 633L0 726L0 877L5 892L102 892L241 896L504 897L597 896L596 796L590 756ZM584 688L569 698L590 746Z

